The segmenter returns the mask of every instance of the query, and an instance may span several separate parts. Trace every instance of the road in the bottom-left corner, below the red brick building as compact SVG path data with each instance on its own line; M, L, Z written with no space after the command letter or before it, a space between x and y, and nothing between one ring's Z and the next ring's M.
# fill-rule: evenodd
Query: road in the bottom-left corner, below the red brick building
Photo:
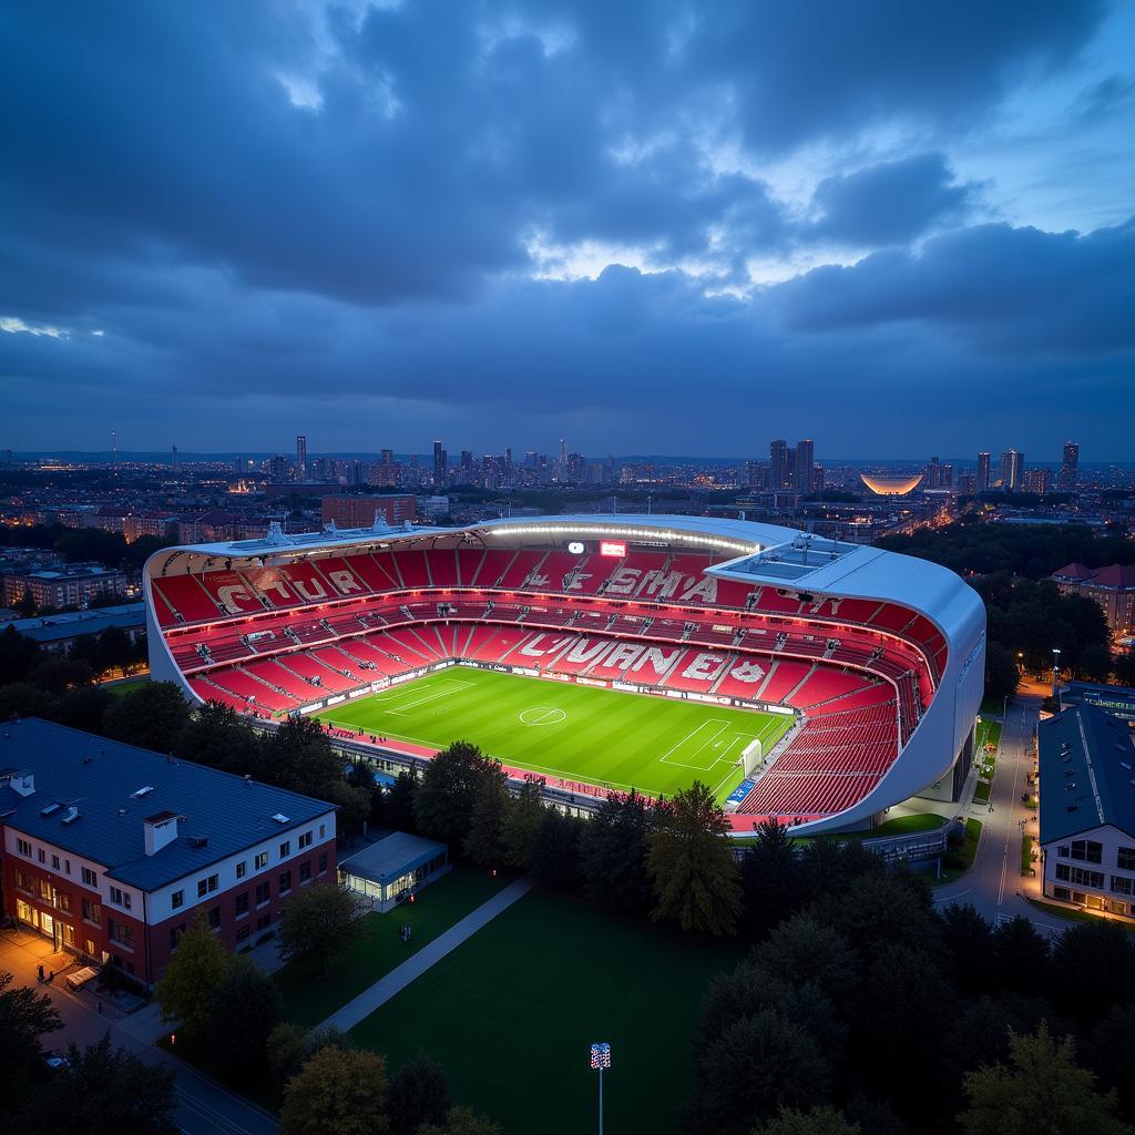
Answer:
M11 970L17 982L35 986L36 965L45 952L50 952L50 942L28 931L5 931L0 934L0 969ZM275 1116L150 1043L154 1037L152 1014L145 1017L143 1010L133 1017L110 1017L108 1003L108 1015L102 1016L96 1010L96 998L86 991L75 994L61 983L40 987L50 995L64 1022L60 1032L43 1039L44 1044L59 1049L66 1048L70 1041L79 1046L94 1044L102 1040L109 1027L111 1043L133 1052L146 1063L165 1065L173 1070L176 1120L186 1135L275 1135L278 1130ZM137 1035L140 1032L150 1035L142 1039Z

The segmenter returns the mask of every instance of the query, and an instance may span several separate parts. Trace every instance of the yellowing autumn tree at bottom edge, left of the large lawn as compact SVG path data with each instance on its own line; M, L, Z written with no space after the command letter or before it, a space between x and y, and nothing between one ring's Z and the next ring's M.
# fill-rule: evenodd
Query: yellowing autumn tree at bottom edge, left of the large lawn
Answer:
M281 1135L386 1135L386 1060L320 1049L284 1088Z

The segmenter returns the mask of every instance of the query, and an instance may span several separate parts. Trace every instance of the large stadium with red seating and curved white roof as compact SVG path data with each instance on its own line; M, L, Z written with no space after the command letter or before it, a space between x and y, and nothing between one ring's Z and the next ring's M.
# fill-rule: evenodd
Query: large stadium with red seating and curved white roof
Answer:
M793 529L539 516L165 548L151 672L269 722L314 714L387 767L477 743L594 807L707 784L738 832L956 799L985 613L925 561Z

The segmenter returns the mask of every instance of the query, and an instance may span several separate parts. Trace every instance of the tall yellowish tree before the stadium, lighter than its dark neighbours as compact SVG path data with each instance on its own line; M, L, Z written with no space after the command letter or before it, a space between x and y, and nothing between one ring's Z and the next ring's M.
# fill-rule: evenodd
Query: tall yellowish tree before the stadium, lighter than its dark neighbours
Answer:
M737 933L740 872L728 831L724 813L700 781L674 797L647 852L655 922L672 918L682 930Z

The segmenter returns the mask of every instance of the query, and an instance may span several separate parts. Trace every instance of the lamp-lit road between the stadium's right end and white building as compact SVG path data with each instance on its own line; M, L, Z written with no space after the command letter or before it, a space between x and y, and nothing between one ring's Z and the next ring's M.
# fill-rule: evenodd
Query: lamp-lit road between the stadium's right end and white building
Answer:
M1027 775L1033 766L1032 740L1041 709L1036 693L1018 696L1009 707L1001 728L1001 748L997 758L997 775L989 804L974 804L962 809L964 817L982 822L982 838L974 866L957 883L939 888L934 901L972 903L990 920L1004 922L1020 915L1044 934L1059 933L1068 923L1053 918L1025 900L1041 897L1040 877L1020 875L1022 824L1036 834L1036 813L1022 804L1029 791ZM966 787L972 797L973 777Z

